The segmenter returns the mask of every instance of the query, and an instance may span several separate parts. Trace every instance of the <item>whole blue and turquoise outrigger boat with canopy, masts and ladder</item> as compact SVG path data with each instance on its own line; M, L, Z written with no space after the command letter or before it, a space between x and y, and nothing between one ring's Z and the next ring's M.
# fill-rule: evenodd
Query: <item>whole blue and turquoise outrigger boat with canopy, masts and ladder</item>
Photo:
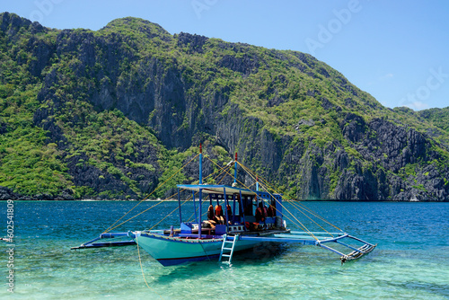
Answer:
M339 232L309 231L286 208L283 195L270 192L268 184L260 184L258 177L237 161L237 154L235 154L235 160L227 165L228 167L234 165L232 186L203 184L201 146L199 149L199 154L196 156L199 156L199 183L179 184L177 186L179 226L175 228L172 225L171 228L163 230L128 231L126 233L105 232L98 238L72 249L137 244L137 247L148 252L163 266L200 260L218 260L231 263L234 253L249 250L263 243L299 243L318 246L337 253L340 256L341 263L358 259L374 250L375 244L367 243L341 230ZM249 172L256 181L255 190L248 187L237 187L238 165ZM181 193L185 194L186 191L191 194L190 198L193 199L194 203L195 220L192 222L183 222L182 218L181 206L187 200L181 204L180 195ZM196 201L198 201L198 208L195 205ZM205 201L208 202L209 208L207 217L203 219L202 205ZM294 207L301 208L299 202L289 202ZM225 206L225 209L222 208L222 205ZM302 209L303 213L307 211L330 224L309 209L305 207ZM312 220L309 216L307 217ZM304 228L304 231L287 229L285 218ZM313 221L313 223L316 222ZM320 227L323 228L321 225ZM103 239L118 237L128 237L128 241L102 241ZM350 243L347 241L350 241ZM344 254L334 245L339 245L339 249L349 249L351 252Z

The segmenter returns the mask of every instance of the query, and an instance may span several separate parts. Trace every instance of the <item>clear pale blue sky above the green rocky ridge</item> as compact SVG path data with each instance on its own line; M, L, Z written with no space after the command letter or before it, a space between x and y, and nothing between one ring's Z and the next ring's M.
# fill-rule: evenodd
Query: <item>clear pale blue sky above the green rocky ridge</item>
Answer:
M140 17L172 34L310 53L390 108L449 106L447 0L0 0L0 12L94 31Z

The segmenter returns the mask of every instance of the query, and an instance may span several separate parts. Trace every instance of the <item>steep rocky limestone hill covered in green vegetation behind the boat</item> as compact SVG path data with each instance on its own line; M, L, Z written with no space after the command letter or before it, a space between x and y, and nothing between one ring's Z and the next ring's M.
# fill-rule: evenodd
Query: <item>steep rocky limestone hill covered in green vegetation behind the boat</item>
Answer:
M296 199L447 201L448 116L385 108L300 52L136 18L89 31L0 14L0 199L140 199L202 142Z

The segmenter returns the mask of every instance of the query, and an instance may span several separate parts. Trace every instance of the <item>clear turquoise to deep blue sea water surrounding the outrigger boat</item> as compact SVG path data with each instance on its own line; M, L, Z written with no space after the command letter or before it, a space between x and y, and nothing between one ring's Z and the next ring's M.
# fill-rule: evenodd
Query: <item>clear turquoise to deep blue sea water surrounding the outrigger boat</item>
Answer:
M155 203L144 202L137 211ZM136 246L70 250L101 234L135 205L126 201L14 202L14 294L6 290L4 254L0 298L449 298L449 203L307 202L307 207L332 224L378 243L377 248L344 265L330 251L283 244L236 255L231 266L204 261L168 268L141 251L150 288L145 285ZM4 236L6 203L0 206ZM176 206L176 202L165 202L116 231L148 228ZM185 212L183 218L188 217ZM175 212L158 228L177 223ZM0 246L5 253L6 243Z

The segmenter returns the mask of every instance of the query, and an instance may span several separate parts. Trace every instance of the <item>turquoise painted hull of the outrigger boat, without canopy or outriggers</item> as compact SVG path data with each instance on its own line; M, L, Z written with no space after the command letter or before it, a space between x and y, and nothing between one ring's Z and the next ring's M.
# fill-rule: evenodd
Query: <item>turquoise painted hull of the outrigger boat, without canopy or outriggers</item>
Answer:
M201 260L216 260L223 244L217 239L181 239L161 234L133 232L134 241L163 266ZM260 241L237 241L234 251L244 251L259 246Z

